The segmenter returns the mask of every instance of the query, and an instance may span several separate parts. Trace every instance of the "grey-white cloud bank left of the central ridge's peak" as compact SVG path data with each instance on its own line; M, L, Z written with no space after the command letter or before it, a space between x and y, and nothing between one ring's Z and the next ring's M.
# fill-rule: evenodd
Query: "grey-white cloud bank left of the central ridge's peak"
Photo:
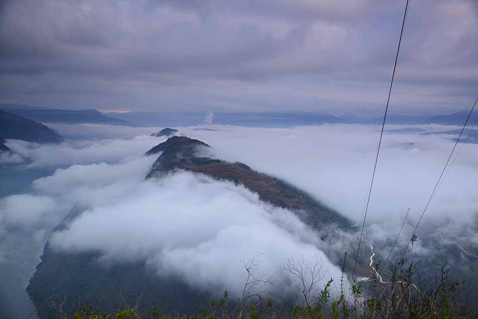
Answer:
M31 194L0 199L0 232L6 233L6 228L12 227L44 232L54 227L65 210L77 202L99 205L124 195L121 190L126 193L128 190L114 188L112 184L115 185L118 179L121 180L119 185L141 182L154 162L154 159L141 156L143 150L162 140L164 138L138 136L131 140L77 141L59 145L8 140L13 153L8 156L2 153L2 165L23 175L36 168L52 169L54 173L34 181ZM25 185L25 189L28 188L29 185ZM98 189L108 190L103 193L105 197L95 194Z

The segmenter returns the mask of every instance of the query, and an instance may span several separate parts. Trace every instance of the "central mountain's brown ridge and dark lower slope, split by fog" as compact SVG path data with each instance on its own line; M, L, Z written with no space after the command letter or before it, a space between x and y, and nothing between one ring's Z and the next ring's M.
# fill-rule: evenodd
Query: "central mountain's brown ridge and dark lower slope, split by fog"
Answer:
M263 201L288 208L307 224L322 229L324 224L336 223L343 229L351 230L351 222L317 202L305 192L271 176L251 170L243 163L229 163L209 157L197 157L197 152L208 148L206 143L185 136L173 136L146 152L148 155L161 153L147 179L160 177L172 170L182 169L229 180L243 185L257 193ZM53 231L68 227L84 211L75 206ZM321 231L321 236L327 236ZM160 306L164 313L182 314L194 311L194 298L208 300L200 291L188 287L180 278L159 277L148 271L144 263L123 263L101 267L97 252L69 253L54 251L46 243L41 263L30 279L26 291L37 308L41 319L55 318L56 311L48 305L55 296L64 300L63 311L71 313L76 303L88 303L93 308L118 309L114 295L123 292L121 302L138 306L138 311L150 310L151 304ZM365 257L364 257L365 258ZM363 263L366 265L366 262ZM359 266L360 267L360 266ZM139 301L138 295L143 299ZM118 297L118 296L117 296ZM138 302L136 304L136 302Z

